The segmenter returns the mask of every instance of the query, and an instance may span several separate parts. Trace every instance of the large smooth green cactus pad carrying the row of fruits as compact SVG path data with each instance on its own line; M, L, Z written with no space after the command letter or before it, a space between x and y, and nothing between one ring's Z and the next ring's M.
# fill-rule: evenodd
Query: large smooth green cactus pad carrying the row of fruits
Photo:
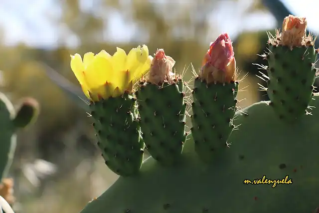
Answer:
M138 178L119 178L81 213L313 213L319 207L315 98L313 116L293 126L280 122L268 102L236 112L234 123L241 126L214 165L203 165L189 134L179 167L160 167L151 157ZM264 175L293 183L244 184Z

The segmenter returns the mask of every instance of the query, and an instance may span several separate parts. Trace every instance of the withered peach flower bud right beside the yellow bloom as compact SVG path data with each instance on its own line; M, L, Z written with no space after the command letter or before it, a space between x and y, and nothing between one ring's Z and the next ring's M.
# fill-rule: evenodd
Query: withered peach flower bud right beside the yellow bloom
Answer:
M172 72L174 65L174 59L165 55L163 49L158 49L151 63L148 81L158 85L163 82L172 83L175 79L175 73Z

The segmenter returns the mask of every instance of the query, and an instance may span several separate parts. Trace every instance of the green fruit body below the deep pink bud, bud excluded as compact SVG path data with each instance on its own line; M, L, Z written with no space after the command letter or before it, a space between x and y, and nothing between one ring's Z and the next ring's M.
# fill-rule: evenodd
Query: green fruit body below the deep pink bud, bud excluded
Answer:
M207 163L228 147L227 140L234 129L238 85L194 80L191 132L197 154Z

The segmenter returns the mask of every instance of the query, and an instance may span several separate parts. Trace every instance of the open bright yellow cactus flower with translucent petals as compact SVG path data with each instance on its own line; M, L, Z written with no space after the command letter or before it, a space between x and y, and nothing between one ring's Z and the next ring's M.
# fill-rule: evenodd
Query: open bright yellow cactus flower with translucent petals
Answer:
M132 92L133 85L150 70L152 59L146 45L131 49L129 54L117 47L113 55L105 50L96 55L85 53L83 60L79 54L71 55L71 69L84 94L98 101Z

